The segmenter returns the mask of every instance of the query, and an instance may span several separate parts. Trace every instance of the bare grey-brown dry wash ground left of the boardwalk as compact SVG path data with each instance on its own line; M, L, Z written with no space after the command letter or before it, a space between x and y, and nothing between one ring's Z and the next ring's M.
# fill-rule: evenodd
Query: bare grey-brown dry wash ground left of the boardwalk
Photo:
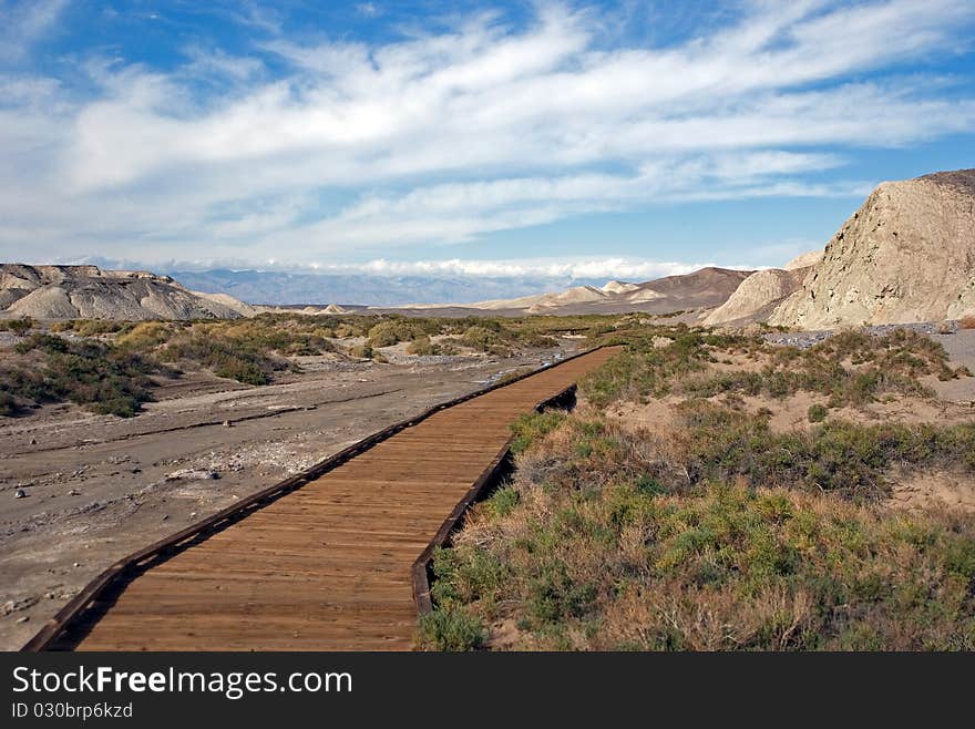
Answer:
M129 420L68 404L0 419L0 649L23 645L124 555L550 358L302 358L302 374L268 387L202 373L165 382Z

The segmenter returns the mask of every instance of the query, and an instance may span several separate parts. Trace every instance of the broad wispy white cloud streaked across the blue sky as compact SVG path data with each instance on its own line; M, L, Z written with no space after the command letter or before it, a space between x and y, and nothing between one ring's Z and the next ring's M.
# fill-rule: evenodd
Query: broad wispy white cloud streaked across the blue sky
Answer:
M0 78L0 254L301 263L661 202L852 197L875 181L844 178L845 150L975 131L951 80L897 75L959 42L973 3L742 7L681 44L607 49L595 8L368 45L287 38L248 6L247 55L191 48L167 73L92 61L81 100ZM60 8L16 6L39 29L24 38ZM202 100L209 76L226 83Z

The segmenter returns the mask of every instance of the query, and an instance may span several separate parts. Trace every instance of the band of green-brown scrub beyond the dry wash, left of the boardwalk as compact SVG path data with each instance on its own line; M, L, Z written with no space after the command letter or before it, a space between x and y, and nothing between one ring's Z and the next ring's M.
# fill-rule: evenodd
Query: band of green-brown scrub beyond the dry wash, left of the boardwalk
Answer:
M209 371L263 386L281 373L298 371L301 357L330 355L384 363L387 348L398 345L406 345L407 356L507 357L526 348L554 347L553 335L561 332L613 330L610 321L609 317L437 319L304 314L193 321L76 319L50 325L30 318L7 319L0 320L0 328L23 341L0 361L0 415L59 401L133 415L152 399L150 374Z

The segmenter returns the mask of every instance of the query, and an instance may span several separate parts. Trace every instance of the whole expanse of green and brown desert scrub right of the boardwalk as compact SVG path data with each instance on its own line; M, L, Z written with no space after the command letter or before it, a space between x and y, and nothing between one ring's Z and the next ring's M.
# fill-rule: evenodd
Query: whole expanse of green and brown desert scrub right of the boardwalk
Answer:
M635 321L592 338L626 351L576 412L513 425L515 473L437 553L419 645L975 649L975 516L889 504L905 473L975 479L975 420L840 417L968 377L940 345ZM773 428L799 392L804 427ZM663 401L666 428L617 417Z

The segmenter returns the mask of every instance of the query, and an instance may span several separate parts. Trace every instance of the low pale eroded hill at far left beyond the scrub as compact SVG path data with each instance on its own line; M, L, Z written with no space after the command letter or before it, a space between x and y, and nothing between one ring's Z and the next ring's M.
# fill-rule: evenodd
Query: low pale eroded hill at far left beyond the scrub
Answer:
M233 297L197 294L148 271L0 264L3 318L237 319L253 314Z

